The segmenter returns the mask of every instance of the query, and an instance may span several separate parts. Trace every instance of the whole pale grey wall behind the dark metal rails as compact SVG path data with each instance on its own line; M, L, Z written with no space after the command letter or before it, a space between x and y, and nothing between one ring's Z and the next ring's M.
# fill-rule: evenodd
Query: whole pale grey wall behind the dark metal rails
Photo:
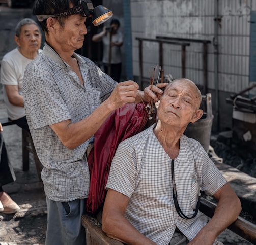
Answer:
M219 90L238 92L249 84L249 40L251 1L218 1L218 79ZM138 41L136 37L159 36L206 39L208 45L208 88L214 80L214 0L131 0L133 37L133 73L139 76ZM144 74L158 63L158 45L144 45ZM203 84L202 45L187 47L186 77ZM181 49L164 45L164 71L181 77Z

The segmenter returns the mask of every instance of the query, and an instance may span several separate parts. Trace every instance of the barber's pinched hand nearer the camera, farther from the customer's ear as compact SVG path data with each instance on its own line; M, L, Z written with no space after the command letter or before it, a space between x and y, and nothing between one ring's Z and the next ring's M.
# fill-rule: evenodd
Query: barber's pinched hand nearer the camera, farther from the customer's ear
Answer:
M137 97L138 87L138 84L131 80L118 83L107 99L111 107L113 107L112 110L116 110L126 103L134 102Z

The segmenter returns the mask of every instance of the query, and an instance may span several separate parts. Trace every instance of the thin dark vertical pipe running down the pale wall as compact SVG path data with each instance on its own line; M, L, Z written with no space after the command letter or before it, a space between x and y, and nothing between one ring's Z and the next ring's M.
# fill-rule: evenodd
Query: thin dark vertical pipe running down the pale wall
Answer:
M214 0L214 83L215 83L215 114L217 120L217 131L219 131L219 80L218 80L218 0Z

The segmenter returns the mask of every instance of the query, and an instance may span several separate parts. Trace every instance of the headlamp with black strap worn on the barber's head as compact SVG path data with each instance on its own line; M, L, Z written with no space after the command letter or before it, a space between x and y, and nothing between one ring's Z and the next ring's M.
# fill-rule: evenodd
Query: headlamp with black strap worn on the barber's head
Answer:
M58 16L70 16L81 14L84 17L92 17L92 22L95 26L98 26L113 16L112 11L104 7L103 5L99 5L97 7L93 7L92 1L88 0L79 0L79 5L75 6L71 9L66 10L65 12L53 14L53 15L37 15L38 21L43 21L48 17L58 17Z

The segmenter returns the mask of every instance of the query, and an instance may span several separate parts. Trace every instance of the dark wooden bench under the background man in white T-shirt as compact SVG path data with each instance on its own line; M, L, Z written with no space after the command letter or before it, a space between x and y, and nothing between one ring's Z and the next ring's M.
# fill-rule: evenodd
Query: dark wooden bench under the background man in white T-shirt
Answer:
M8 118L0 118L0 123L2 126L10 126L16 125L13 121L9 120ZM34 156L36 169L38 178L41 180L41 171L42 171L42 164L37 157L37 153L32 141L32 137L29 132L22 128L22 170L29 171L30 170L30 152Z

